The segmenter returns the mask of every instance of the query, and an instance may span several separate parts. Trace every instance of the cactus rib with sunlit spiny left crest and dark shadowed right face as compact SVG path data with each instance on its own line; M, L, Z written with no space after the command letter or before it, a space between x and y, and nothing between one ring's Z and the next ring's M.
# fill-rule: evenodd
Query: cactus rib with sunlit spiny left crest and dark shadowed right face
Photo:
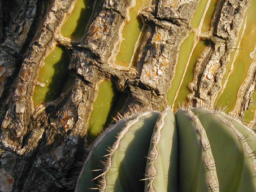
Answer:
M128 124L112 146L99 191L138 191L144 189L147 151L158 112L147 112Z

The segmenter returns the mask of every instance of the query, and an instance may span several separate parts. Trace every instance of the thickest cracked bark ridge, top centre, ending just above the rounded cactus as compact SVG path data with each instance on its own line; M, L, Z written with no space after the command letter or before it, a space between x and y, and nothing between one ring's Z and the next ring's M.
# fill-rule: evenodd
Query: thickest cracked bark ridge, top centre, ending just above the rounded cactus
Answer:
M138 79L131 86L137 103L159 108L175 75L181 43L192 31L190 21L199 1L153 1L141 11L149 25L137 59ZM140 91L138 90L140 89ZM138 94L140 93L140 94Z

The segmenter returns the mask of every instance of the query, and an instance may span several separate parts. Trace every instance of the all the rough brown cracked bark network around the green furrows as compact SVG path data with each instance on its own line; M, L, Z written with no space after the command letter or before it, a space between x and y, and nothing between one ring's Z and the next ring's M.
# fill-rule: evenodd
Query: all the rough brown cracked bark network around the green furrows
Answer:
M76 163L86 155L85 136L99 82L111 80L120 91L127 91L122 114L132 106L160 109L171 88L180 45L193 30L190 21L199 0L153 0L141 10L149 28L136 70L114 65L122 29L135 0L103 1L79 42L60 34L76 1L15 2L21 11L13 13L8 33L5 29L0 34L4 39L0 46L0 191L67 191ZM3 4L0 17L5 12ZM248 0L220 1L212 33L205 37L210 46L201 55L198 74L190 86L194 104L213 104L215 95L209 93L219 89L248 4ZM34 108L38 73L57 44L72 53L69 70L75 84L63 97ZM216 62L218 73L211 73L212 62ZM207 96L202 97L204 94Z

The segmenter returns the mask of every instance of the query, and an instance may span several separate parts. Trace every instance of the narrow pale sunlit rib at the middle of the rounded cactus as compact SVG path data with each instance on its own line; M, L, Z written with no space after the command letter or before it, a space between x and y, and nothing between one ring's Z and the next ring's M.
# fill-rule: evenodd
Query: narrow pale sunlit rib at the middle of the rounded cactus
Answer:
M177 191L178 141L175 115L165 111L155 124L147 159L145 191ZM168 146L168 147L166 147Z

